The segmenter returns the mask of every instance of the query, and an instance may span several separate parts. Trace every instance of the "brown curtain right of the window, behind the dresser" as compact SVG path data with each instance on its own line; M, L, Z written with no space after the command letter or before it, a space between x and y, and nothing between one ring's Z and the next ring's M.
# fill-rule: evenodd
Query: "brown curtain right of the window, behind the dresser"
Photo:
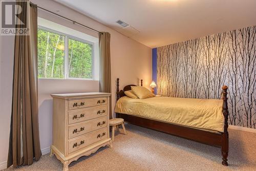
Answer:
M99 33L99 91L111 93L110 33ZM112 101L110 97L110 118Z

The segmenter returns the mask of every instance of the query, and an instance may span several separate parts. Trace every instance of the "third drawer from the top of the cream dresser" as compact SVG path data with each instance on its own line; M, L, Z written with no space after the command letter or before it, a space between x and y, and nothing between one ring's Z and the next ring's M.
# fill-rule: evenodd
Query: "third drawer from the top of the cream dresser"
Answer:
M107 117L103 117L69 126L69 139L102 129L108 125L107 122Z

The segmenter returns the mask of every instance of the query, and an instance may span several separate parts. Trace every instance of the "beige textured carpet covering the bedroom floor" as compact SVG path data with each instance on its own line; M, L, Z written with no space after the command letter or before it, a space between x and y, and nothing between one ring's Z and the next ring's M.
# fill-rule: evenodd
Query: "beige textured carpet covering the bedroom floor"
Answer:
M128 135L116 134L114 147L82 157L70 170L256 170L256 134L229 130L229 166L221 164L220 148L126 124ZM13 170L12 168L8 170ZM55 156L16 170L62 170Z

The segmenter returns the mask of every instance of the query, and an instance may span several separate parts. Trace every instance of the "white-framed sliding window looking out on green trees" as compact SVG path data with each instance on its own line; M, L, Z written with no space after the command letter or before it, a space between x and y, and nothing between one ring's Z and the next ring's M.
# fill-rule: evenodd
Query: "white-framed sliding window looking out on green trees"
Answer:
M38 78L93 79L94 43L38 28Z

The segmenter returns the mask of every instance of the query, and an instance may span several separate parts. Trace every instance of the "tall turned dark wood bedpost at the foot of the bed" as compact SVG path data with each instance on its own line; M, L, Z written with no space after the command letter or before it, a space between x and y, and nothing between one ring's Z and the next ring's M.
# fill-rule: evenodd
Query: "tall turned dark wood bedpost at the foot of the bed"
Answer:
M227 166L227 156L228 156L228 106L227 106L227 86L223 86L223 107L222 114L224 115L224 133L222 134L222 145L221 145L221 154L222 154L222 164Z

